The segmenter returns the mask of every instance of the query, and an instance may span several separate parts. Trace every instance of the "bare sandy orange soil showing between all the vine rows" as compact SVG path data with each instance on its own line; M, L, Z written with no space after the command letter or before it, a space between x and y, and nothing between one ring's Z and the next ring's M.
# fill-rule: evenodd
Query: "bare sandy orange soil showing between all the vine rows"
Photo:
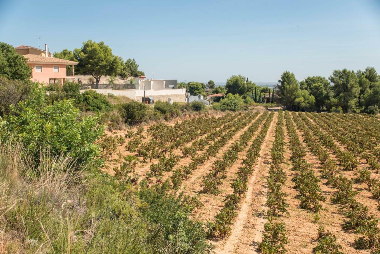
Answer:
M255 118L257 119L259 115ZM252 119L251 124L255 119ZM275 126L278 119L278 113L276 112L273 121L269 127L266 134L266 138L261 145L260 158L256 161L253 174L250 176L248 181L248 191L245 193L245 197L242 198L242 202L237 210L237 216L234 219L233 225L231 227L231 234L226 236L224 239L214 238L210 240L212 244L215 245L215 253L257 253L258 243L261 242L261 238L264 232L264 224L267 222L266 219L266 193L267 193L267 180L269 171L269 163L271 161L270 149L272 147L275 135ZM310 118L309 118L310 119ZM312 119L310 121L313 122ZM171 123L174 125L174 123ZM314 123L315 124L315 123ZM294 126L296 124L294 123ZM222 191L219 195L208 195L199 194L202 189L201 181L202 176L206 175L210 170L212 163L215 160L221 158L223 153L225 153L236 141L239 136L247 130L249 125L238 131L234 137L219 150L215 157L209 158L206 163L198 166L198 168L189 175L188 179L182 182L180 190L183 190L186 195L197 196L198 200L203 203L203 206L198 210L193 211L192 217L194 219L199 219L203 222L206 220L213 220L214 216L222 209L223 200L226 195L233 192L230 183L236 177L236 172L239 167L242 166L242 160L245 158L248 147L252 144L253 139L258 135L261 130L262 125L258 127L255 133L252 135L247 147L239 153L239 158L226 172L226 179L223 179L222 185L219 189ZM146 134L147 126L144 128L144 136ZM297 129L297 128L296 128ZM341 251L344 253L369 253L367 250L358 250L354 248L354 241L359 236L353 230L343 230L342 224L345 221L345 216L341 213L339 206L331 202L331 196L336 192L336 189L326 185L326 180L321 178L321 164L317 157L310 153L307 149L307 155L305 159L313 165L315 176L320 179L319 186L322 190L324 196L326 196L326 201L321 202L323 209L318 212L317 216L315 212L302 209L299 207L300 201L298 197L298 191L294 189L294 182L292 178L296 175L296 171L291 170L292 164L290 161L291 151L290 142L287 133L287 128L283 127L285 134L285 152L284 152L284 163L282 168L287 175L287 180L282 187L282 191L287 193L287 202L289 204L288 212L289 214L284 214L277 218L278 221L283 221L287 229L287 236L290 243L287 244L286 249L288 253L311 253L312 249L317 245L318 228L323 225L326 230L336 235L337 243L342 246ZM323 131L323 130L322 130ZM119 131L116 135L124 134L125 131ZM306 143L302 137L301 131L297 129L298 136L302 144L307 148ZM315 137L317 140L318 138ZM147 137L149 140L149 137ZM193 142L193 141L192 141ZM186 144L191 145L192 142ZM347 150L347 147L340 144L335 140L336 144L342 150ZM125 145L118 147L118 152L120 156L125 156L131 153L125 151ZM323 147L325 148L325 147ZM206 150L207 147L204 149ZM325 148L326 149L326 148ZM204 151L203 150L203 151ZM338 163L336 156L331 150L326 149L332 160ZM201 152L203 152L201 151ZM176 154L180 154L180 149L174 151ZM199 152L199 153L201 153ZM115 153L113 160L107 162L108 169L105 169L109 173L112 173L112 167L118 166L120 161L118 161L118 155ZM179 160L174 169L180 167L181 165L187 165L190 162L190 158L183 158ZM368 165L364 160L359 160L359 169L365 168ZM157 160L152 161L152 163L157 163ZM139 176L146 176L147 171L149 171L150 163L145 163L138 165L136 170ZM170 177L172 172L165 172L162 179L167 179ZM356 178L356 171L342 171L342 174L348 179ZM371 176L376 179L380 179L380 174L376 174L372 171ZM356 200L367 205L371 214L375 217L380 218L380 211L377 209L377 201L371 198L371 193L367 190L366 186L363 184L354 184L353 189L357 190L359 193L356 196ZM318 219L319 217L319 219Z

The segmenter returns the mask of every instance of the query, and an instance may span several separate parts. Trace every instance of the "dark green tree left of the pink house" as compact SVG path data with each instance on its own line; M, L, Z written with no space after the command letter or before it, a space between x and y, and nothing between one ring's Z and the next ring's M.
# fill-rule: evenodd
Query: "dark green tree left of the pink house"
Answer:
M26 64L27 60L13 46L0 42L0 76L10 80L29 80L32 68Z

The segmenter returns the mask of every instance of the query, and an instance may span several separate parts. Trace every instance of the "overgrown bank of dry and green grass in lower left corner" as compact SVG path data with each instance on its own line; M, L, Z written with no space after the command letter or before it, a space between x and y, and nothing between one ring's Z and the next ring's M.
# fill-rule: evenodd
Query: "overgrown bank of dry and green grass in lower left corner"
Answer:
M191 211L166 185L135 189L49 154L36 162L21 144L0 144L0 251L211 251L202 225L190 220Z

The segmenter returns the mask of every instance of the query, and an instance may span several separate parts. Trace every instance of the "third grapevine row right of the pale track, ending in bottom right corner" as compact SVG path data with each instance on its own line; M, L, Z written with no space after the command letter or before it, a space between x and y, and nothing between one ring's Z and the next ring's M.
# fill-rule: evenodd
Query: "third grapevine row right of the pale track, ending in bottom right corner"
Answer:
M302 121L303 120L303 121ZM378 251L380 247L380 230L377 227L378 219L373 215L368 214L368 207L355 200L356 191L352 189L353 181L344 177L340 169L329 158L328 152L318 145L317 139L315 139L310 133L309 128L317 130L317 127L313 125L307 118L301 114L301 117L294 114L294 121L297 123L298 128L302 131L305 142L310 147L310 151L316 155L322 163L323 177L328 179L327 184L337 189L334 193L331 201L341 206L342 212L347 219L342 225L344 230L356 230L357 233L364 236L355 240L355 245L359 249L372 248L373 251ZM306 123L306 125L305 125ZM328 158L321 158L321 153L328 154ZM335 238L332 238L334 240ZM325 242L327 243L327 242Z

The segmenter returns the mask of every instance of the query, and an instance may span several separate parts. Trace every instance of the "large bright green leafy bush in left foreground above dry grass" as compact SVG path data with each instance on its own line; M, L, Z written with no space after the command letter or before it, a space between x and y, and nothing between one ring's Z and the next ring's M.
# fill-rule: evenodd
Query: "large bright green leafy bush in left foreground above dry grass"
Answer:
M32 86L28 98L18 103L17 110L4 119L9 136L16 134L13 138L25 144L35 159L47 149L52 156L63 153L84 165L99 153L94 142L103 134L103 126L98 125L98 119L79 118L79 110L71 101L48 105L45 89L38 83Z

